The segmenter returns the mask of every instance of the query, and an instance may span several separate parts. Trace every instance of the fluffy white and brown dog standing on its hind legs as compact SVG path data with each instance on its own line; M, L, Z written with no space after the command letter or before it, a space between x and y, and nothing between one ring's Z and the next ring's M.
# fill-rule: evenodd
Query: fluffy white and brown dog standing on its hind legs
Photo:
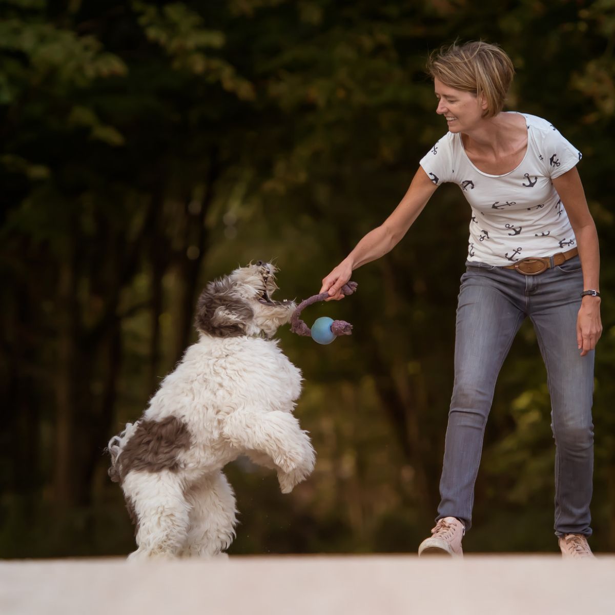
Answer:
M293 416L301 372L272 339L296 308L272 300L276 271L258 261L207 284L196 309L199 341L143 416L109 441L109 476L135 523L129 560L228 549L237 510L222 469L242 454L276 469L282 493L314 469L314 448Z

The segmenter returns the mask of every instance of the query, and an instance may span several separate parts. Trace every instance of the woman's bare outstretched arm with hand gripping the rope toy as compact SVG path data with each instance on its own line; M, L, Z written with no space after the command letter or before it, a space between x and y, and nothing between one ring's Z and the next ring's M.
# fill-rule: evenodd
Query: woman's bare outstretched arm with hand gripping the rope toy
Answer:
M427 173L419 167L410 183L410 188L394 212L380 226L368 232L354 250L323 278L320 292L328 290L330 298L327 301L344 298L339 289L350 279L354 269L391 252L423 211L436 188Z

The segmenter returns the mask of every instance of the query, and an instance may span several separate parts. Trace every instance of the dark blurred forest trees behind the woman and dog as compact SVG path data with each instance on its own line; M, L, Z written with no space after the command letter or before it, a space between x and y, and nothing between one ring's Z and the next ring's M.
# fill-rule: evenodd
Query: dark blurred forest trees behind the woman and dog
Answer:
M446 132L424 72L458 39L500 44L507 108L584 154L601 240L597 552L615 550L615 0L3 0L0 22L0 557L127 554L103 452L196 339L203 285L275 258L277 298L380 224ZM239 459L232 554L415 552L433 525L469 207L438 189L301 368L314 474L292 494ZM609 401L611 400L611 401ZM554 442L529 323L496 388L467 551L555 552Z

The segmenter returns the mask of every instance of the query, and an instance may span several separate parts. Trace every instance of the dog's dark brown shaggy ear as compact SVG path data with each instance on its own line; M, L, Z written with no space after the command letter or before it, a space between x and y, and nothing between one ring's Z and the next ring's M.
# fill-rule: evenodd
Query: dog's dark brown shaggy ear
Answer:
M210 282L200 294L194 326L218 338L245 335L253 311L226 279Z

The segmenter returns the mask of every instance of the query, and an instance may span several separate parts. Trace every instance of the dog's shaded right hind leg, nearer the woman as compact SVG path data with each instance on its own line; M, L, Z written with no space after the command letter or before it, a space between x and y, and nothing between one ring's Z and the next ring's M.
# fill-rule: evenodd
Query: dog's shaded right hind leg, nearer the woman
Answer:
M183 555L212 557L228 549L235 536L235 496L221 471L199 478L186 492L191 506Z

